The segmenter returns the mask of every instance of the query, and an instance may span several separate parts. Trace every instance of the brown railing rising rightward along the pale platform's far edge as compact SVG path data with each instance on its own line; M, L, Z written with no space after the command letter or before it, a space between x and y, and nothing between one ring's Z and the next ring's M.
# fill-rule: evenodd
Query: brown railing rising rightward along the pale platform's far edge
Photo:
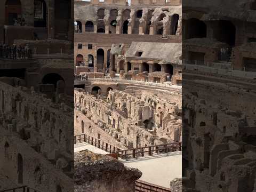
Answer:
M130 159L144 156L153 156L162 153L170 153L174 151L181 151L181 142L118 150L116 151L116 158Z

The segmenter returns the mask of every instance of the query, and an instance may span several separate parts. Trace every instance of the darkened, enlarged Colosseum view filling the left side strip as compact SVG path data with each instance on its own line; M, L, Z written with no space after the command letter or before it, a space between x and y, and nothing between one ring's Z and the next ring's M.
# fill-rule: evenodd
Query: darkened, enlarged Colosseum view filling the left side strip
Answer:
M0 191L74 190L73 13L0 2Z

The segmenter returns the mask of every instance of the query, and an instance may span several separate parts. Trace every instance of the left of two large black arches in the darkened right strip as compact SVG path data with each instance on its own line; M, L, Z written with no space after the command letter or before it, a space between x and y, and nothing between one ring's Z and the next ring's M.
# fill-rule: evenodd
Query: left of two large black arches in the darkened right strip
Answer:
M207 27L203 21L199 19L189 19L185 22L186 31L185 38L204 38L207 34Z

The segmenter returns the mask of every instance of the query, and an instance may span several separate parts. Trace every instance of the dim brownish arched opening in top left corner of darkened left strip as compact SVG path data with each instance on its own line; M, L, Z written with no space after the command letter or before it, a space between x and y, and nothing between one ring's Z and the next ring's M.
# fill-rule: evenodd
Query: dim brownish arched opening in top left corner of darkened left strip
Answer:
M6 0L5 23L6 25L14 25L15 20L21 21L21 2L20 0Z

